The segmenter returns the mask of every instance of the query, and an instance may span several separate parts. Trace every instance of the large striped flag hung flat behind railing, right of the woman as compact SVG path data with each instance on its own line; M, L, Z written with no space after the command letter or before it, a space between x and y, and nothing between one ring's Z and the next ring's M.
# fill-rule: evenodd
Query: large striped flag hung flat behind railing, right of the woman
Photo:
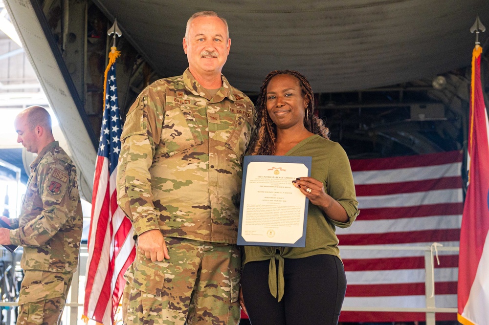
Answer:
M336 229L348 286L344 307L425 308L424 252L350 250L345 245L458 246L463 210L462 152L350 160L360 215ZM436 307L457 305L456 252L439 252ZM454 320L455 313L438 314ZM418 312L342 311L340 322L424 321Z

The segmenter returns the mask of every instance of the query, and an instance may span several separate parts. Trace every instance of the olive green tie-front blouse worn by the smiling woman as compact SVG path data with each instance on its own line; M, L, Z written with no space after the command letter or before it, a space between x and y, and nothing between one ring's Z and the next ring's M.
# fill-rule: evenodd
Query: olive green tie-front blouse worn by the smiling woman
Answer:
M309 202L306 247L244 247L244 264L270 260L268 286L278 301L284 295L284 259L299 259L318 254L335 255L340 258L335 227L351 226L359 213L350 161L338 143L319 135L312 135L299 142L285 155L312 157L311 177L323 182L326 193L345 208L349 220L346 223L332 220L319 207ZM278 260L279 264L278 279L275 260Z

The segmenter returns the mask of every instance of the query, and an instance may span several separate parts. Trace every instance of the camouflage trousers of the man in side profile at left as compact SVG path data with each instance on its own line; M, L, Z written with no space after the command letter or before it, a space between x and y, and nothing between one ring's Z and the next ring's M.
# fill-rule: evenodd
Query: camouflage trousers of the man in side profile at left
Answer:
M72 273L26 270L19 295L17 325L61 324Z

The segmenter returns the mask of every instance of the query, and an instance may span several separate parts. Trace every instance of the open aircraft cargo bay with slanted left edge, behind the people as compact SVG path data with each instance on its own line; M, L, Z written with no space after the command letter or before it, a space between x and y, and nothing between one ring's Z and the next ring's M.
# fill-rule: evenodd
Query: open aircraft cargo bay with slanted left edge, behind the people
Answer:
M214 10L229 24L223 74L230 83L256 100L270 70L300 71L311 81L332 140L351 158L462 150L476 37L469 29L477 16L489 26L488 0L3 1L83 166L85 196L114 19L122 31L116 39L122 112L149 83L184 71L186 21ZM478 36L483 74L488 36Z

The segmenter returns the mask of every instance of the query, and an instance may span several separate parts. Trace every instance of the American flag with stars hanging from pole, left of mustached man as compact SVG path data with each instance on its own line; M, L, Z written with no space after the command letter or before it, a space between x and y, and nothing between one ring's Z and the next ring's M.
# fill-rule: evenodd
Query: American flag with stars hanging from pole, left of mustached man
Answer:
M93 181L83 319L112 325L125 280L135 256L133 229L117 205L116 168L121 148L121 120L117 101L113 50L106 70L105 108Z

